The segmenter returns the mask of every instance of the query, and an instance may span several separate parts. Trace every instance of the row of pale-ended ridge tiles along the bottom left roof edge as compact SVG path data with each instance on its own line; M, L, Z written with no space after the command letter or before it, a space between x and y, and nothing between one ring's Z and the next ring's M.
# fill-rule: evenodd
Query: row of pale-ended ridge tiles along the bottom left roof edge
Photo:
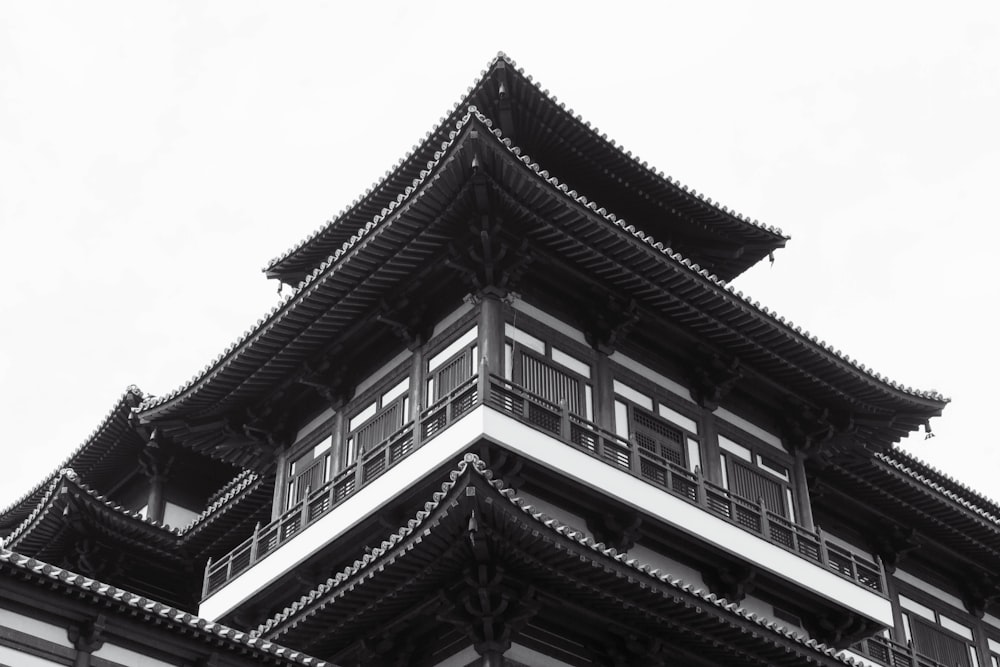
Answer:
M273 642L252 641L252 638L246 633L238 632L218 623L209 623L204 618L165 605L162 602L130 593L95 579L83 577L70 570L56 567L35 558L23 556L3 547L0 547L0 564L7 564L15 569L43 575L70 588L91 593L97 597L113 600L114 602L123 603L141 612L151 612L185 629L199 630L214 635L219 640L225 640L225 642L237 648L237 650L241 650L241 647L248 647L275 657L285 658L286 661L293 664L312 665L313 667L334 667L329 663L303 653L289 651L285 647Z

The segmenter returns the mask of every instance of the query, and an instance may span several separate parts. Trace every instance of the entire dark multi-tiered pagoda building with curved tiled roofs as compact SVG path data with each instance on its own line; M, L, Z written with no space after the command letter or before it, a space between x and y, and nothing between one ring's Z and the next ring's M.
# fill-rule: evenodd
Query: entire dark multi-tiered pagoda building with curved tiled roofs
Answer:
M730 284L787 240L501 54L0 513L0 564L129 591L192 664L1000 667L1000 508L896 446L947 399ZM124 645L87 604L6 613Z

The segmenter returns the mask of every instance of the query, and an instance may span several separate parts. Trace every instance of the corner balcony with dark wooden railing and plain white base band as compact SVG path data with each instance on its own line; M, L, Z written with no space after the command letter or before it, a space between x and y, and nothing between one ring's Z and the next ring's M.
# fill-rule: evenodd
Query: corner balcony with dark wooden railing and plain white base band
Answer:
M442 438L459 423L469 424L455 429L462 432L461 438L457 433L454 438L451 435ZM539 439L543 435L565 447L548 446L544 439ZM394 478L391 484L385 483L385 488L373 489L373 496L385 497L368 502L385 502L399 491L400 484L405 486L407 481L419 479L419 475L453 460L482 437L575 475L584 483L616 493L626 502L668 523L674 522L741 558L762 564L765 569L800 581L818 579L814 590L819 594L880 623L891 623L884 573L879 563L836 546L820 531L796 525L768 510L762 502L740 498L699 472L676 465L569 412L564 406L492 374L469 378L423 410L415 422L405 424L329 482L309 489L289 511L270 524L259 526L233 551L210 561L205 572L202 613L213 618L227 613L239 603L239 596L220 593L226 593L224 589L240 575L252 572L259 563L280 552L283 545L308 533L311 525L331 514L352 515L356 520L358 510L353 506L342 513L334 510L365 495L366 489L378 486L379 480L390 471L413 466L405 471L405 477ZM435 444L438 440L449 443ZM433 453L422 454L427 449ZM420 459L420 465L412 464L413 459ZM408 462L400 466L404 461ZM633 478L646 484L636 485ZM617 492L611 489L613 484L618 485ZM337 534L329 526L319 532L327 541ZM321 547L317 543L310 548ZM282 564L275 568L273 576L293 566ZM836 584L837 580L849 584L844 588ZM273 577L267 581L261 577L252 587L248 581L248 591L268 581L273 581Z

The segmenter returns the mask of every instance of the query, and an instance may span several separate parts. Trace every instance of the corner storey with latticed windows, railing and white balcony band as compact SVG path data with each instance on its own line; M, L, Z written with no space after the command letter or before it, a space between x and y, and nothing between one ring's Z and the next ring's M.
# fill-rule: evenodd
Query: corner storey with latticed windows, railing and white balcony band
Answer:
M287 593L290 573L330 562L332 544L471 449L516 461L519 491L585 517L595 539L690 563L720 596L808 601L849 618L845 637L889 625L878 558L814 525L780 406L720 390L706 407L706 383L693 391L661 362L598 351L523 300L464 304L304 420L276 457L272 521L209 564L201 613Z

